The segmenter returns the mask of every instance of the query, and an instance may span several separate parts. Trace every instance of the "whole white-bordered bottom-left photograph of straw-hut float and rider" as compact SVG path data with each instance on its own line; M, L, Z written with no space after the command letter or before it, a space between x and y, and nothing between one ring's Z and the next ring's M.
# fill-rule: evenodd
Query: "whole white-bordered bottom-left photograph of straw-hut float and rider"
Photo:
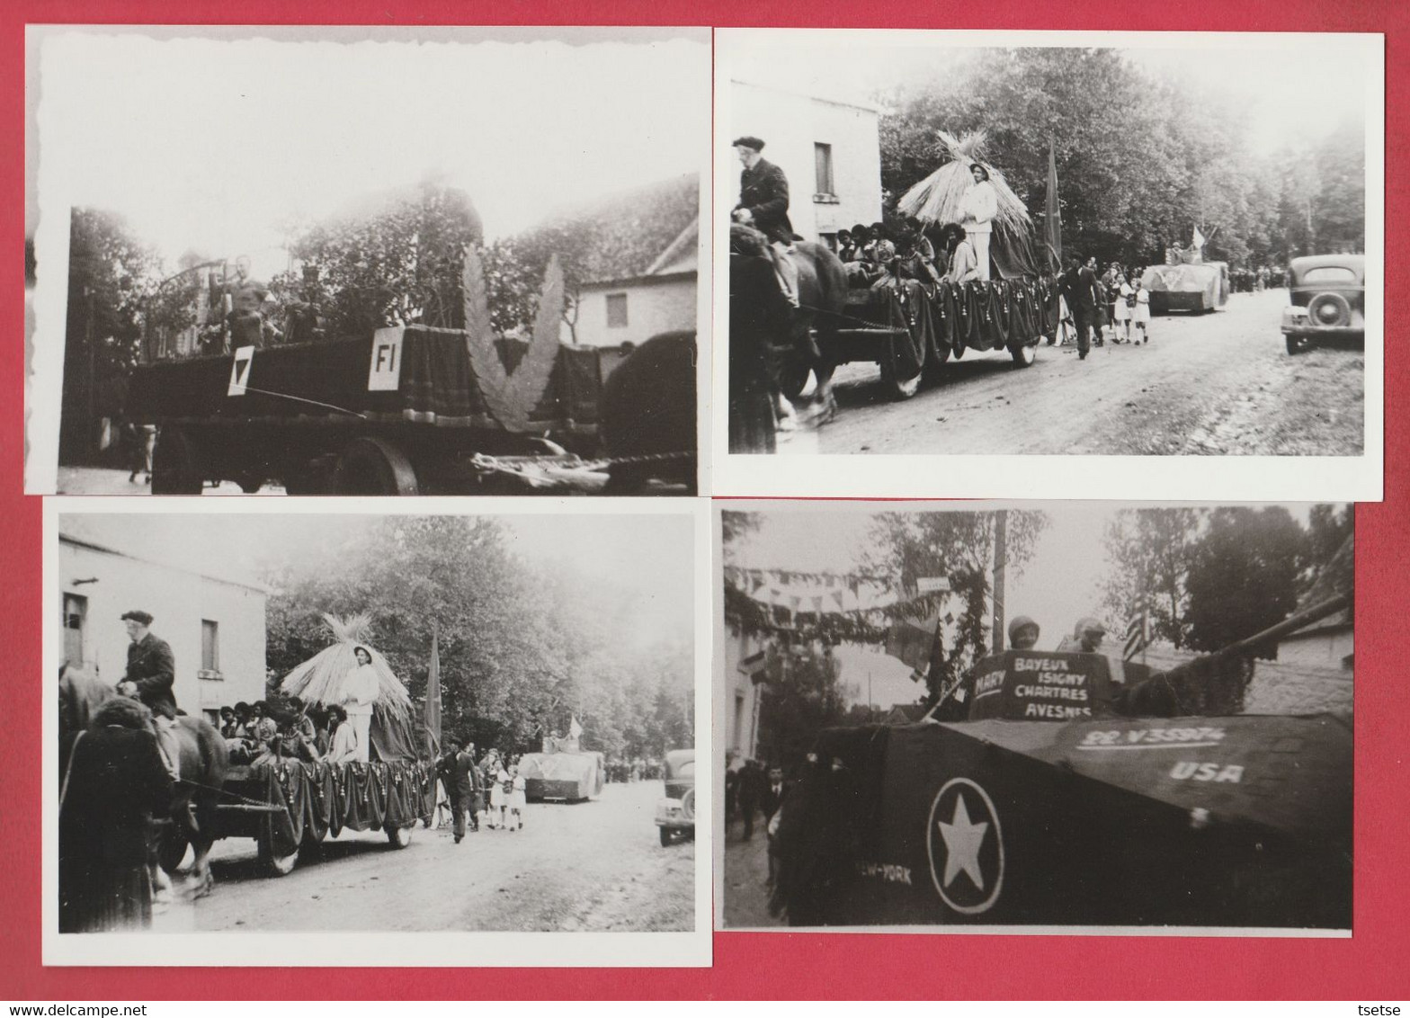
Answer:
M708 964L705 513L515 502L51 506L47 962Z

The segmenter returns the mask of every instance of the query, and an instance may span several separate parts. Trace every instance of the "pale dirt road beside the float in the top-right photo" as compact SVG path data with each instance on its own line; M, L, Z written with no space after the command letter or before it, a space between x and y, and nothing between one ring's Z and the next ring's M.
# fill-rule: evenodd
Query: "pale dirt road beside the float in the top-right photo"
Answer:
M1356 455L1363 441L1359 350L1289 357L1283 290L1235 293L1220 312L1162 316L1146 345L966 354L939 384L893 403L877 369L836 374L838 417L821 453Z

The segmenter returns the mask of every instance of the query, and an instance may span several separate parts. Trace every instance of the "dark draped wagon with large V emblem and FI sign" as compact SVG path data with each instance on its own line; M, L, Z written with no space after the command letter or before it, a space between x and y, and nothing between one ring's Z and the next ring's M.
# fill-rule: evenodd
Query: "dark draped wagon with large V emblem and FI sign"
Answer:
M529 340L494 333L474 250L464 293L464 329L396 326L135 368L127 413L158 429L152 492L234 481L290 495L472 493L644 475L694 489L694 336L654 337L620 364L615 348L561 343L556 262Z

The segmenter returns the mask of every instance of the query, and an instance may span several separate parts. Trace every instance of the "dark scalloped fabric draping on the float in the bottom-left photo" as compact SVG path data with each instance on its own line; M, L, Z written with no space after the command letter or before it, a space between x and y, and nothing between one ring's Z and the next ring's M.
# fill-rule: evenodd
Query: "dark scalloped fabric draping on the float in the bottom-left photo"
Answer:
M436 805L434 774L412 763L305 763L279 760L251 768L261 785L258 798L281 811L269 814L276 854L298 850L307 838L319 840L348 830L405 826L430 816Z

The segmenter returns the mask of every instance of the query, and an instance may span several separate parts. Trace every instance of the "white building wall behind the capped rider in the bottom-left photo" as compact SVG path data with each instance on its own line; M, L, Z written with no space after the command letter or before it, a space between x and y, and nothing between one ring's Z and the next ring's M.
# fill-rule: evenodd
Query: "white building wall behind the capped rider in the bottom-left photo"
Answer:
M176 705L188 713L254 702L265 694L265 594L138 558L59 543L61 595L86 598L83 664L116 685L127 668L123 612L152 615L176 658ZM76 579L96 582L76 584ZM63 603L52 611L62 612ZM220 678L200 678L202 620L219 626ZM59 629L59 640L65 636ZM59 657L63 657L62 647Z

